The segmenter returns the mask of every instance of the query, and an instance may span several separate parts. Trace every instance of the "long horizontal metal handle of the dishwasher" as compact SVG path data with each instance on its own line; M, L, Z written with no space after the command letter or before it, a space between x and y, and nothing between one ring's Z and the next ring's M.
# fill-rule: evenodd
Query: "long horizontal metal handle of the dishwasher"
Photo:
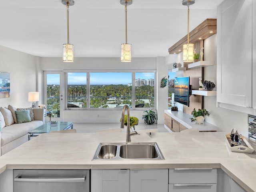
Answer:
M71 178L36 178L36 177L22 177L17 176L14 178L14 182L85 182L86 176L71 177Z

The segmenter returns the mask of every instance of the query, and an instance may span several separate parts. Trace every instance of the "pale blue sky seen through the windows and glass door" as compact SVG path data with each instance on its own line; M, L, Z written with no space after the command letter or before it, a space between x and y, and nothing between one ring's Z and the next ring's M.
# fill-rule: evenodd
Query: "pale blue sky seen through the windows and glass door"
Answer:
M135 79L154 79L154 72L138 72L135 74ZM109 84L124 84L132 83L131 72L106 72L94 73L90 72L90 84L92 85L109 85ZM60 74L47 74L48 85L59 85ZM86 85L86 73L68 73L68 85Z

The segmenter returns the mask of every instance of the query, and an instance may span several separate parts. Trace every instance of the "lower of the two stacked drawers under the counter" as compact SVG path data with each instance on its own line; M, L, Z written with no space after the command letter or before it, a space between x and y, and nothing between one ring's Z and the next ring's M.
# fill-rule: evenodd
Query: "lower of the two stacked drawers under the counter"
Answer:
M216 192L216 184L169 184L168 192Z

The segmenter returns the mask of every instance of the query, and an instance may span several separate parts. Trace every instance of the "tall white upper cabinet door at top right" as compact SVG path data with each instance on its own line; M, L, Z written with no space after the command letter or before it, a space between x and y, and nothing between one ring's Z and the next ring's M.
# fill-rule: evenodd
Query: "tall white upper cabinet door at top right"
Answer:
M252 107L252 0L217 8L217 102Z

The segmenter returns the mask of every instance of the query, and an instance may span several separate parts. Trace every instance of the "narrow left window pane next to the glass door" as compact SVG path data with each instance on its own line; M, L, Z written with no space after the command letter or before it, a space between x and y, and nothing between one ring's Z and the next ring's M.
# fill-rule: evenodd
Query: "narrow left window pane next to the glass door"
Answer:
M67 73L68 91L67 101L68 108L86 107L86 73L75 72Z

